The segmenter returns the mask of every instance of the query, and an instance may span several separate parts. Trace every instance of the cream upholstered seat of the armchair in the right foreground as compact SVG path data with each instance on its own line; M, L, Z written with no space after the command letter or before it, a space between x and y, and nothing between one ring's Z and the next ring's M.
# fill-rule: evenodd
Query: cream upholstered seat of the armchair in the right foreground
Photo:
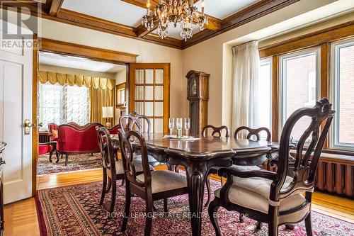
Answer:
M287 176L282 190L286 189L291 182L292 178ZM272 184L272 181L269 179L260 177L239 178L234 176L234 183L229 191L229 200L236 205L268 213L270 184ZM215 196L219 198L220 189L215 191ZM279 210L284 211L301 206L305 201L306 199L302 193L295 193L280 200Z

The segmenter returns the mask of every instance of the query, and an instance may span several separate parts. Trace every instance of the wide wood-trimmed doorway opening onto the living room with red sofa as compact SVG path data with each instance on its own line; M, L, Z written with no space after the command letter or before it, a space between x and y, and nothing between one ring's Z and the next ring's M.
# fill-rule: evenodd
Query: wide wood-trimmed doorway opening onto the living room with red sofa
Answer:
M128 64L135 62L137 57L56 40L39 41L38 60L34 62L38 68L34 84L38 89L36 94L33 93L37 103L33 113L37 114L39 131L38 137L33 137L39 151L33 156L33 172L38 174L33 176L33 186L37 188L40 187L37 182L43 184L42 180L38 181L41 176L50 181L47 175L53 173L101 169L101 157L95 153L70 154L65 165L65 158L61 154L58 158L56 156L51 143L53 133L48 126L50 123L62 125L70 122L117 125L119 116L127 111L125 83ZM108 115L103 109L110 110Z

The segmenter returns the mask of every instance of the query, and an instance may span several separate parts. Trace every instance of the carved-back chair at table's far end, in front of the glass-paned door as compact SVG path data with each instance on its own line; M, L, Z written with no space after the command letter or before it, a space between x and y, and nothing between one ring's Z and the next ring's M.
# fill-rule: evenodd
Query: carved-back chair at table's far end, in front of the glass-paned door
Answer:
M125 125L126 124L126 125ZM144 125L142 125L144 124ZM119 118L119 125L122 128L122 133L125 133L125 130L136 130L139 133L150 133L151 130L151 123L150 119L147 116L139 115L135 111L130 112L128 115L120 116ZM146 127L145 127L146 125ZM142 156L140 154L135 154L135 158L141 160ZM154 157L148 155L149 164L152 167L156 167L161 162L158 162Z

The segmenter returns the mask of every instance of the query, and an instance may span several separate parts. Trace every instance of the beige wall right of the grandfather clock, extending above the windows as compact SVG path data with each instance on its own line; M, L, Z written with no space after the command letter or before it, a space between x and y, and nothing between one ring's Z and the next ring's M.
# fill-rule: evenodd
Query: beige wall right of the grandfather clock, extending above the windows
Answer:
M304 26L347 6L343 1L302 0L183 50L183 74L190 69L210 74L208 123L232 126L232 46Z

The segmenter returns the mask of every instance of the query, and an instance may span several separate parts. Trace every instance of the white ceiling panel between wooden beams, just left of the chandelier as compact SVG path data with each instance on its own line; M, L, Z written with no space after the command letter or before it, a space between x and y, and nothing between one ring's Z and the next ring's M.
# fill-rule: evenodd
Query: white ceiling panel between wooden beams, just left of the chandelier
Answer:
M146 13L120 0L64 0L62 8L132 27L139 26Z

